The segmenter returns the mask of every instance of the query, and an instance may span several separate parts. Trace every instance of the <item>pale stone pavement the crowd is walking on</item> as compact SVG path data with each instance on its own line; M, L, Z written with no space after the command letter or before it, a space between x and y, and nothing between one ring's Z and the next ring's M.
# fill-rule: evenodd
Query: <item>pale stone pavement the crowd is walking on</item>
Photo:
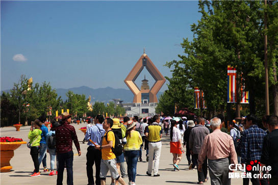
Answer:
M79 128L86 126L85 123L80 125L73 124L77 129L78 138L81 146L81 156L77 155L77 150L73 146L74 161L73 161L73 180L75 185L86 185L87 174L86 174L86 153L87 144L83 144L84 134ZM48 126L49 127L49 126ZM28 133L30 126L21 126L20 131L15 131L14 127L1 128L1 137L9 136L15 138L22 138L23 141L29 142ZM179 165L180 171L173 171L172 166L172 154L170 153L169 136L162 137L162 152L159 164L160 177L147 176L147 162L145 157L145 151L142 151L143 162L137 164L137 176L136 184L197 184L197 170L188 170L188 163L185 154L183 155L182 161ZM30 177L34 170L34 164L30 155L30 149L26 145L21 145L14 152L14 157L11 159L11 166L13 169L11 172L0 173L2 185L22 185L22 184L56 184L57 175L48 176L49 172L44 173L42 164L40 166L41 176ZM47 167L50 168L50 156L47 153ZM125 164L125 166L127 166ZM55 163L56 167L56 163ZM95 172L95 170L94 170ZM128 184L128 178L124 178L124 181ZM110 184L111 178L107 178L106 184ZM66 184L66 170L64 171L64 184ZM211 184L210 180L206 185ZM232 179L232 184L242 184L242 179Z

